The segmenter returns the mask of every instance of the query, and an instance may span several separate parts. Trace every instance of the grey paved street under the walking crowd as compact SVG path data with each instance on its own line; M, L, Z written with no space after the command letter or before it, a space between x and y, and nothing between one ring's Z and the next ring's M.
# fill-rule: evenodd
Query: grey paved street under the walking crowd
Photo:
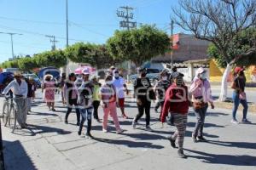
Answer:
M189 122L184 142L188 159L177 157L166 136L174 127L158 122L159 114L151 110L154 132L141 126L131 128L131 119L119 117L123 134L116 134L113 122L109 133L102 133L102 124L93 121L95 139L79 137L75 114L69 116L70 124L63 122L66 108L57 102L56 112L48 111L37 99L28 116L30 127L11 133L2 127L4 159L7 170L69 170L69 169L255 169L256 168L256 114L248 113L253 124L230 123L230 111L217 108L209 110L205 133L209 143L192 143L191 133L195 116L189 112ZM59 100L59 97L58 97ZM153 104L154 105L154 104ZM137 114L134 102L126 102L128 116ZM102 117L102 108L99 109ZM241 120L241 111L239 112ZM120 116L120 111L119 111ZM110 119L111 120L111 119Z

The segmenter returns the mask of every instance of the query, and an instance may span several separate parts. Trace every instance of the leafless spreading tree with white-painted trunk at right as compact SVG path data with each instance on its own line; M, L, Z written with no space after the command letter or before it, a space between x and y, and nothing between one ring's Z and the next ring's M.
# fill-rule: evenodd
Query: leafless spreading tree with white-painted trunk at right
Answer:
M172 8L175 23L184 30L191 31L196 38L212 42L225 61L226 69L219 95L219 100L224 101L232 65L256 50L253 46L236 55L228 52L230 48L240 45L235 40L241 31L256 25L256 1L179 0L179 6L180 8Z

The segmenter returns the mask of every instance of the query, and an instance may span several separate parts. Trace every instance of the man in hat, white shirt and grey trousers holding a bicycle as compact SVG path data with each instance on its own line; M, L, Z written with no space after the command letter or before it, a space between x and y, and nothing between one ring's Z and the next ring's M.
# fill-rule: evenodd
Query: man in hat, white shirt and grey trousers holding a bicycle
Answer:
M27 114L27 83L21 79L20 72L15 72L15 80L10 82L9 85L4 88L2 94L8 94L11 90L14 94L15 103L17 105L17 121L21 128L26 128L26 114Z

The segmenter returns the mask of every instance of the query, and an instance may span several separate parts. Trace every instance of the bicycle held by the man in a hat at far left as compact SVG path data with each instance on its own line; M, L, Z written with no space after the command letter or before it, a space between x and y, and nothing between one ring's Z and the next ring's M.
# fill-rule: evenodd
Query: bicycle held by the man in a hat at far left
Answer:
M3 126L7 127L7 125L9 125L9 127L12 128L12 132L15 132L17 123L17 107L14 99L9 96L5 96L2 118Z

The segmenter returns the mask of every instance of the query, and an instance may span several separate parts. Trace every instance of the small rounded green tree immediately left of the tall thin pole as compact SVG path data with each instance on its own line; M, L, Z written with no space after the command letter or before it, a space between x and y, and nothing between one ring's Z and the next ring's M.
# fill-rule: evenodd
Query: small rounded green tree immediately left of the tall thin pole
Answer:
M62 50L46 51L34 56L39 67L54 66L60 68L67 64L67 58Z

